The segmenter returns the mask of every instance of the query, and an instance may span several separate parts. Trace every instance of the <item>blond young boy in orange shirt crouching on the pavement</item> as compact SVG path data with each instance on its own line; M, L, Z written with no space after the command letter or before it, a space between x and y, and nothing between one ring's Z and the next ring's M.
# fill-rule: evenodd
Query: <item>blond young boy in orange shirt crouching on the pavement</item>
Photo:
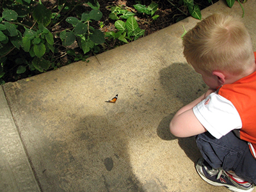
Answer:
M231 15L214 14L183 38L184 56L209 90L170 123L177 137L196 136L200 177L231 191L256 184L256 64L250 35Z

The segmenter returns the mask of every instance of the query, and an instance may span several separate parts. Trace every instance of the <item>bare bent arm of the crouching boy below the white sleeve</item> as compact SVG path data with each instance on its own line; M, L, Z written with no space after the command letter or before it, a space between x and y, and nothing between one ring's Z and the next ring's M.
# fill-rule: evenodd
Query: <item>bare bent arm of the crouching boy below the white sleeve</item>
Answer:
M170 123L170 131L173 135L185 138L189 136L195 136L207 131L202 124L198 121L195 114L193 113L193 107L196 106L199 102L205 99L209 94L215 90L209 89L207 92L183 108L173 116Z

